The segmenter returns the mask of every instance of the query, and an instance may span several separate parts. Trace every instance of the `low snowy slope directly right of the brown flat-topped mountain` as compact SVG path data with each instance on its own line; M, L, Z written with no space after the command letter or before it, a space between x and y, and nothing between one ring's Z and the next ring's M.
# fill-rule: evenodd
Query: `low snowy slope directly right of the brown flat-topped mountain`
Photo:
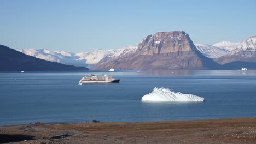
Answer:
M209 58L219 58L221 56L226 55L228 53L228 50L220 49L219 47L212 46L212 45L206 45L206 44L195 44L197 50L199 50L204 56Z

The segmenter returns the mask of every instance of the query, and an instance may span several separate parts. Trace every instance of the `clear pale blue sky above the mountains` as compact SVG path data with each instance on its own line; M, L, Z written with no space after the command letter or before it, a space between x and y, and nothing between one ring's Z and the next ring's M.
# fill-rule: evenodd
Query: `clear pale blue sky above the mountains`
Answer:
M256 35L256 1L0 0L0 44L69 52L138 45L158 31L183 30L194 43Z

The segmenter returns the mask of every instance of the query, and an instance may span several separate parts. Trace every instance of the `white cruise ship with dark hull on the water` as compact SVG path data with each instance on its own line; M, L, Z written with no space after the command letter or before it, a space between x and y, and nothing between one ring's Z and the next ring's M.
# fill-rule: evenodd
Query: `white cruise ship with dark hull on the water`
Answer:
M108 76L108 75L103 75L103 76L97 76L94 74L88 75L83 77L80 81L79 84L83 83L108 83L108 82L119 82L120 79L114 79L113 76Z

